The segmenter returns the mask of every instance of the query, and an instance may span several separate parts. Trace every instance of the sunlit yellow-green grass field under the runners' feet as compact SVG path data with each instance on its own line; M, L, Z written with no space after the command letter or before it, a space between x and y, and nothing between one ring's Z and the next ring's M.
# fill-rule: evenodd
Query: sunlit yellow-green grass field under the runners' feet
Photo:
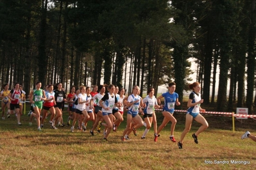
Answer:
M178 141L185 114L175 114L175 117ZM89 130L74 133L70 132L70 127L53 130L48 123L38 132L35 121L32 126L28 125L27 115L22 116L21 126L12 115L0 121L0 169L255 169L256 143L240 138L246 130L256 134L255 121L236 122L236 132L232 132L231 118L205 118L209 128L198 136L199 143L195 144L191 137L200 126L193 122L183 149L179 150L177 144L169 140L170 123L160 133L157 143L153 141L153 128L146 139L141 139L144 130L141 128L139 135L131 134L132 140L122 143L120 137L125 121L105 142L98 132L91 136ZM157 119L160 125L161 112L157 112ZM67 120L67 112L64 120ZM89 122L87 127L90 126Z

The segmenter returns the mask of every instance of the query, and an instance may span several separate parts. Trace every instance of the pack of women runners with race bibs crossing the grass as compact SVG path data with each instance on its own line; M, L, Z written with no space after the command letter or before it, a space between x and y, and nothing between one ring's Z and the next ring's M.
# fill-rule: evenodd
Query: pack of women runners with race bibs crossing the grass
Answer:
M78 121L78 129L85 131L87 129L87 122L92 121L93 125L90 128L90 134L94 135L94 130L97 128L100 132L100 128L105 127L103 131L103 140L107 141L107 137L113 130L117 131L120 123L123 121L124 109L127 109L127 125L121 136L121 141L130 140L129 135L133 132L137 135L137 128L142 126L146 127L141 139L146 138L149 129L153 123L154 128L154 141L157 142L160 136L160 131L171 121L171 133L169 139L176 142L174 137L174 130L176 125L176 119L173 116L175 111L175 105L180 105L178 101L178 94L175 93L175 82L169 83L168 91L162 93L159 97L155 97L155 89L148 88L148 95L142 99L139 96L139 86L133 86L132 94L126 97L124 88L119 89L117 86L110 84L108 93L105 93L106 87L103 85L94 86L92 91L89 87L80 86L80 88L71 87L69 95L66 96L65 91L62 89L62 83L56 84L54 89L53 84L46 86L46 89L41 89L42 83L37 82L36 88L30 92L28 98L31 103L30 111L30 125L31 121L35 117L37 121L37 128L39 131L44 127L44 120L51 114L49 124L52 128L57 129L56 125L64 127L62 110L64 109L64 102L69 104L69 118L67 125L71 125L71 132L74 132L74 126ZM2 119L4 120L4 114L6 108L8 108L9 114L13 114L15 110L17 114L18 125L21 125L21 101L26 98L26 93L22 91L20 84L15 84L15 87L10 91L8 84L4 84L3 90L0 93L2 99ZM186 115L185 129L182 132L180 141L178 142L178 148L182 149L183 139L187 132L191 128L191 123L194 120L201 123L201 127L197 132L192 134L194 142L198 144L198 135L208 127L208 123L201 116L200 112L205 112L205 109L201 109L200 104L203 103L203 99L200 96L200 83L194 82L189 85L192 89L191 95L189 95L189 101L187 107L189 107ZM54 90L53 90L54 89ZM99 91L99 92L98 92ZM161 104L160 99L164 98L164 105ZM155 109L162 108L162 114L164 120L157 129L157 118L155 115ZM10 109L10 110L9 110ZM41 115L42 111L42 115ZM144 121L141 116L141 112ZM8 117L7 116L7 117ZM73 120L71 124L71 120Z

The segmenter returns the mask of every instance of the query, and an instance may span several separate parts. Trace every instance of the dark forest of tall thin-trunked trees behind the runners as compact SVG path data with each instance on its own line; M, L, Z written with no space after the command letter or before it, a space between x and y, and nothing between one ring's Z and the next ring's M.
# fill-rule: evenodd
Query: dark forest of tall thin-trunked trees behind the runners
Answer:
M255 33L255 0L0 0L0 83L30 91L103 79L130 92L175 81L183 102L198 81L216 111L253 113Z

